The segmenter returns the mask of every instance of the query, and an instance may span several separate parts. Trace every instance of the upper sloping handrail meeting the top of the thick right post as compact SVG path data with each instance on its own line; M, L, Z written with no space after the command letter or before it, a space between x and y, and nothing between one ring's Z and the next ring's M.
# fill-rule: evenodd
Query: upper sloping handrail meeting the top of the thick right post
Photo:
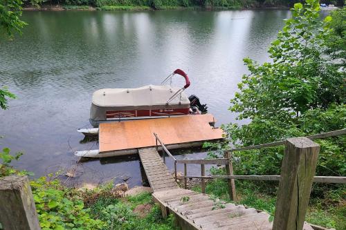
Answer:
M331 131L327 133L320 133L316 135L310 135L307 136L310 140L316 140L316 139L321 139L325 137L335 137L338 135L345 135L346 134L346 128L337 130L337 131ZM271 143L266 143L266 144L257 144L253 146L247 146L247 147L242 147L242 148L231 148L228 150L225 150L224 152L236 152L236 151L246 151L246 150L251 150L251 149L258 149L258 148L268 148L268 147L274 147L274 146L280 146L284 145L286 140L278 141L278 142L271 142Z

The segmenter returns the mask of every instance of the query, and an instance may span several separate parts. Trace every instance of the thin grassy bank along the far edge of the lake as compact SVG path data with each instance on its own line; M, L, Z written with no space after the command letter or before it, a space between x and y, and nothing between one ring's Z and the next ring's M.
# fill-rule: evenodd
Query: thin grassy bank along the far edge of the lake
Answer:
M102 7L93 7L93 6L53 6L53 7L24 7L23 11L140 11L140 10L201 10L201 11L221 11L221 10L289 10L288 6L271 6L271 7L244 7L244 8L224 8L224 7L215 7L215 8L201 8L196 7L183 7L183 6L167 6L163 9L154 9L147 6L102 6Z

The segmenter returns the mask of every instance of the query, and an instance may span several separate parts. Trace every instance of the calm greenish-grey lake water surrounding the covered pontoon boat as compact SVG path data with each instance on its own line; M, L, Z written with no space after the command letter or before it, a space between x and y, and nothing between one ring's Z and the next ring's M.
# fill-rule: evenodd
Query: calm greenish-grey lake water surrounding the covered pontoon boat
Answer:
M234 122L228 106L247 73L242 59L269 61L266 50L289 16L289 10L24 12L23 35L0 37L0 86L17 95L0 110L0 148L24 152L16 166L36 177L76 169L71 183L130 178L130 186L139 185L134 156L75 166L73 151L98 148L75 131L89 125L93 91L160 84L181 68L191 81L187 93L208 104L217 125ZM183 78L173 84L183 86Z

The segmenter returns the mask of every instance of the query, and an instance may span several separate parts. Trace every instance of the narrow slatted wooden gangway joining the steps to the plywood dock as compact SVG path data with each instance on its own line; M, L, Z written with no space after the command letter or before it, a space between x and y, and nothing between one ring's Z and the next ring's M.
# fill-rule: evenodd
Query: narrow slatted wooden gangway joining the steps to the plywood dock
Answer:
M154 192L179 188L167 166L163 164L156 148L140 148L138 153Z

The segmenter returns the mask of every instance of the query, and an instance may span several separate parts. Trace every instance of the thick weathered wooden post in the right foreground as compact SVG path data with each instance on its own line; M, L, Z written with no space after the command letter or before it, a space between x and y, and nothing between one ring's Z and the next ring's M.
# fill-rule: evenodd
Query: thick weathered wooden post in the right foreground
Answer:
M303 228L319 151L307 137L286 140L273 230Z

